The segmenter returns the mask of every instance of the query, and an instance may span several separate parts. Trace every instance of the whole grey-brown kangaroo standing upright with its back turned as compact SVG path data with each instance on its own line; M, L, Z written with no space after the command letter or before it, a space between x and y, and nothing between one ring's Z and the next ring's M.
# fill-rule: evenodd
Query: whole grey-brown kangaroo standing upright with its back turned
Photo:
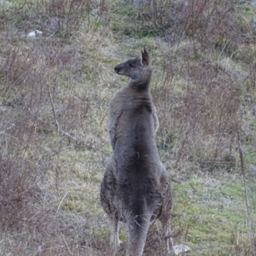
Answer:
M169 225L172 192L155 143L159 122L149 92L152 70L147 49L114 71L128 76L130 82L116 93L108 111L113 156L102 180L101 202L111 225L110 243L117 253L118 223L124 221L129 233L126 255L143 255L150 221L159 218L166 255L170 255L175 251Z

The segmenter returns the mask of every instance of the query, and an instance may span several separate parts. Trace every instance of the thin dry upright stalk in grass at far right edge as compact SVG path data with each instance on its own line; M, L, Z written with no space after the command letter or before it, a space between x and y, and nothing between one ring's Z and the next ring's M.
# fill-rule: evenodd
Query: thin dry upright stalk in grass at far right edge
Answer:
M240 162L241 162L241 174L243 178L243 189L244 189L244 195L245 195L245 201L246 201L246 207L247 207L247 223L248 223L248 230L250 233L250 239L251 239L251 250L253 253L253 256L255 256L255 251L254 251L254 244L253 244L253 230L252 230L252 222L251 222L251 212L250 212L250 207L249 207L249 201L248 201L248 194L247 194L247 183L246 183L246 177L245 177L245 170L244 170L244 159L243 159L243 154L241 151L241 140L240 140L240 133L237 131L237 144L238 144L238 151L239 151L239 157L240 157Z

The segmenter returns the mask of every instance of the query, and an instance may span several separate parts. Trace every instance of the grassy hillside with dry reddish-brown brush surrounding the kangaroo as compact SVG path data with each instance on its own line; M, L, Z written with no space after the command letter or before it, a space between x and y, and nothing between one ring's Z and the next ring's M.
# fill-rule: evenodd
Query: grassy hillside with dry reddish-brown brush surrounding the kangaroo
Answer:
M113 67L143 45L175 243L255 255L254 1L130 2L0 1L1 255L112 255L99 189L108 103L127 83ZM143 255L162 242L156 222Z

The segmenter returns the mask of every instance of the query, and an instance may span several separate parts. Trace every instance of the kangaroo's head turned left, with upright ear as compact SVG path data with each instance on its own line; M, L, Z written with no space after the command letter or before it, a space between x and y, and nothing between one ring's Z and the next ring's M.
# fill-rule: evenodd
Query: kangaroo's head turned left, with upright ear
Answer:
M148 81L151 76L151 68L149 62L148 50L143 47L142 55L131 58L114 67L115 73L125 75L134 83L143 83Z

